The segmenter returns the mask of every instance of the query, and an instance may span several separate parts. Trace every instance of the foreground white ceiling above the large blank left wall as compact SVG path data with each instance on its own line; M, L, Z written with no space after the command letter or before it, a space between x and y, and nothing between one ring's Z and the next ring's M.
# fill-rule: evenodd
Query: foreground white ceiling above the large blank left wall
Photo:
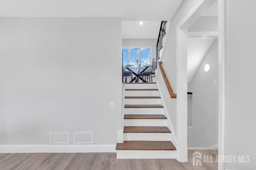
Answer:
M182 0L0 0L0 17L122 17L170 20Z

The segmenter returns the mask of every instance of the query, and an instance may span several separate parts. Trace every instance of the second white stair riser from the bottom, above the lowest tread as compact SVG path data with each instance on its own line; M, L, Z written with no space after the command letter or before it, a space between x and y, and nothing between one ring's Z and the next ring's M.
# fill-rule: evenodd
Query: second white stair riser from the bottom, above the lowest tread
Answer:
M170 133L124 133L124 141L170 141Z

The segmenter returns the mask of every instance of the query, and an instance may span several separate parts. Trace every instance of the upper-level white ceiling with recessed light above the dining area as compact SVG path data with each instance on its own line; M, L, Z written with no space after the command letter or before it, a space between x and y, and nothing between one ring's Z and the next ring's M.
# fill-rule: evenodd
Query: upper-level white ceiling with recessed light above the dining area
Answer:
M158 38L161 21L122 21L122 38Z

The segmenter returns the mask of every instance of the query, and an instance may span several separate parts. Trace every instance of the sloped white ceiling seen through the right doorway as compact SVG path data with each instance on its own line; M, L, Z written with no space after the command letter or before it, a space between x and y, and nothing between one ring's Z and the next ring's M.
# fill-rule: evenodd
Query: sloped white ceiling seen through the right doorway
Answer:
M188 38L188 82L196 73L214 39Z

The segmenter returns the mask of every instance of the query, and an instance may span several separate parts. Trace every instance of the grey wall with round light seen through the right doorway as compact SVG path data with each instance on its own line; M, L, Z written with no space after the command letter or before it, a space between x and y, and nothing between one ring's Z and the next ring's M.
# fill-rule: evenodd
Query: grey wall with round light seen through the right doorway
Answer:
M211 68L205 72L205 64ZM211 147L218 144L218 39L215 39L198 67L188 89L192 96L192 146Z

